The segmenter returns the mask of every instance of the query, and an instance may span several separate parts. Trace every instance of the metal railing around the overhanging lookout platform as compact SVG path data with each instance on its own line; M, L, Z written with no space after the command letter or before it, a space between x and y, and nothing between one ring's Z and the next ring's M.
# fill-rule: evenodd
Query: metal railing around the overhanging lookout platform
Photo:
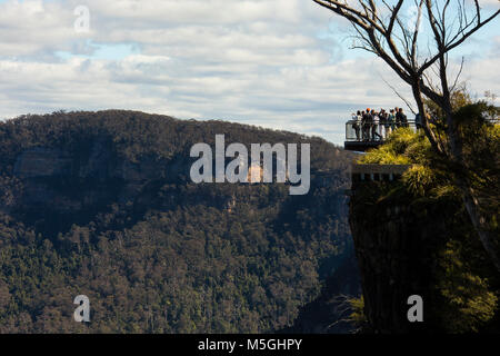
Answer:
M349 120L346 122L346 141L383 142L392 131L401 127L417 131L414 120L401 123L361 123L359 120Z

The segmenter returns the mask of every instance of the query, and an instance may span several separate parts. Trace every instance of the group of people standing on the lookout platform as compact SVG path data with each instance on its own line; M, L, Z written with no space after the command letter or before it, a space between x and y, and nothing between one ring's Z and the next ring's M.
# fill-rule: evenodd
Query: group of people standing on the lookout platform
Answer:
M408 127L408 118L402 108L384 109L376 111L368 108L352 113L352 128L356 131L358 141L381 141L393 130L400 127Z

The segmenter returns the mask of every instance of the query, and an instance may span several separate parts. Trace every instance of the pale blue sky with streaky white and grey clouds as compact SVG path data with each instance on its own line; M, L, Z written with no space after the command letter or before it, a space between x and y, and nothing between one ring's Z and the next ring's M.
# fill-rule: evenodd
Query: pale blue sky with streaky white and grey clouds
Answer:
M386 81L411 100L381 60L350 49L351 34L312 0L0 0L0 119L130 109L341 145L352 111L404 106ZM499 19L452 65L462 56L469 89L500 95Z

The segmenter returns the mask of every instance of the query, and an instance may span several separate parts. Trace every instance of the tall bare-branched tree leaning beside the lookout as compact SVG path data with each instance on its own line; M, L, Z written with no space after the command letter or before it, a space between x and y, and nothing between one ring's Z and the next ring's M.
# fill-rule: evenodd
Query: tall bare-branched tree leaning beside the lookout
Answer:
M323 8L347 19L356 30L360 48L380 57L411 87L422 127L433 150L453 168L454 180L479 238L492 263L500 271L500 259L494 248L496 233L480 206L468 178L463 160L460 122L453 113L452 92L463 68L463 59L454 78L449 75L448 55L462 44L500 10L484 16L479 0L313 0ZM409 24L403 6L413 8L414 21ZM421 36L427 29L431 36ZM424 51L421 49L424 48ZM446 139L426 112L424 99L433 101L443 112ZM462 174L460 174L462 172Z

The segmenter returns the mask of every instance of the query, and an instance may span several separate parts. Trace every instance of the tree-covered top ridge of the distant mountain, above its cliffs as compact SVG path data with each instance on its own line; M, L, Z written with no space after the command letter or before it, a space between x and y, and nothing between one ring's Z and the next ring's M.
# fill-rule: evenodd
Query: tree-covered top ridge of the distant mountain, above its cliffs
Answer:
M311 167L316 169L336 168L348 161L336 159L339 148L319 137L219 120L178 120L161 115L123 110L26 115L0 122L0 159L1 167L6 170L27 148L84 151L96 137L109 139L112 148L131 161L148 155L157 159L169 159L177 154L189 156L189 149L197 142L213 146L217 134L224 134L228 142L247 145L311 142Z

